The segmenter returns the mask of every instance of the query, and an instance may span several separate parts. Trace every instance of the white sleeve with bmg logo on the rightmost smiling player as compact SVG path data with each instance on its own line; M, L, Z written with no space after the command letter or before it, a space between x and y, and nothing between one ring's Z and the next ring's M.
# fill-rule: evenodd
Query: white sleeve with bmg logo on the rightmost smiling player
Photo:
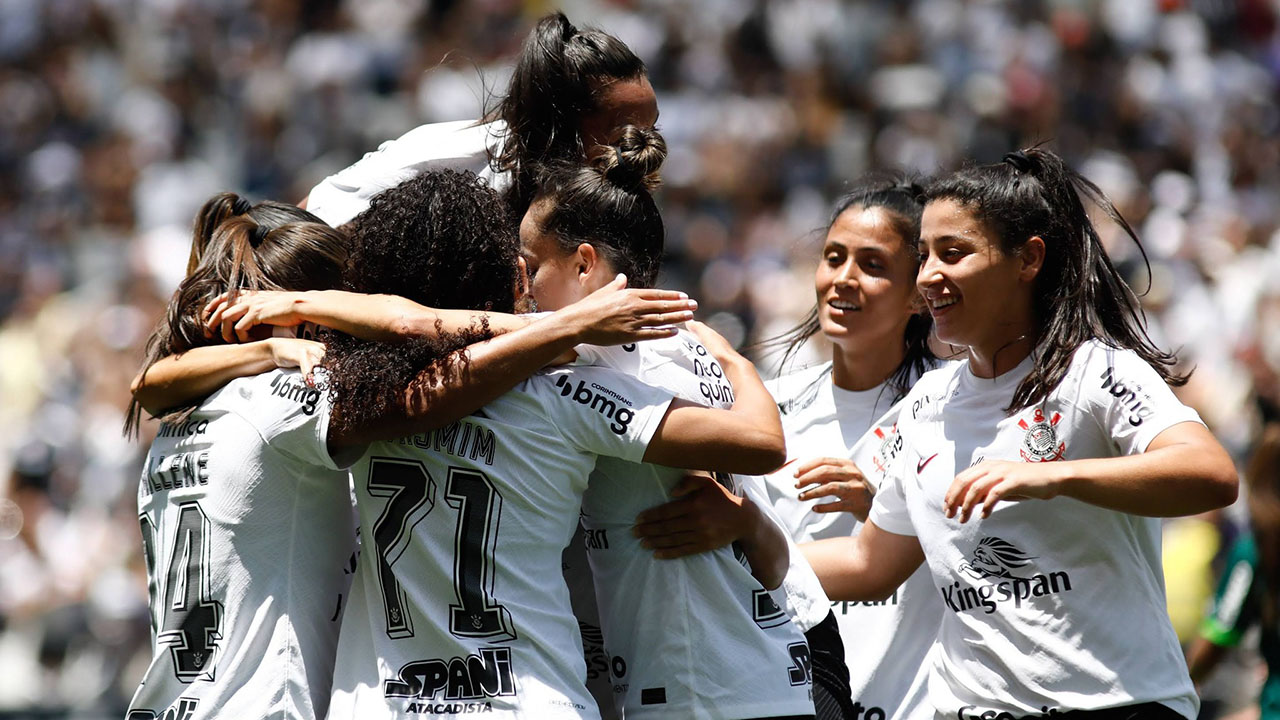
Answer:
M1146 452L1156 436L1179 423L1202 423L1196 410L1179 402L1165 379L1133 352L1101 343L1088 343L1078 352L1088 354L1078 402L1121 455Z

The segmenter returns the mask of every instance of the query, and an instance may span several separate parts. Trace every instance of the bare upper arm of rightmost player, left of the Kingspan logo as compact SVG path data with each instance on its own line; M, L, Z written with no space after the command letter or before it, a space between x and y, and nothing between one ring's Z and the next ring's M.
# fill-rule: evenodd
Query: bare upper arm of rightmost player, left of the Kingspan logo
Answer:
M868 520L855 537L799 547L827 597L840 601L884 600L924 562L918 538L881 529L874 520Z

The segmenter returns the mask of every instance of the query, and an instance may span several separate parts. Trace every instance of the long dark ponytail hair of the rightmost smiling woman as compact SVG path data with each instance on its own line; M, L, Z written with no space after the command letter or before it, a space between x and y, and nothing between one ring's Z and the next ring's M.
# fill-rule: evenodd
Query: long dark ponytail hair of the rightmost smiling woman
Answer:
M1010 152L993 165L965 168L924 191L925 202L954 200L969 209L996 234L1006 255L1032 237L1044 241L1044 264L1032 296L1037 324L1030 340L1039 351L1007 413L1048 397L1066 375L1071 355L1089 340L1132 350L1169 384L1187 382L1187 375L1172 370L1176 357L1147 336L1138 297L1107 258L1082 197L1106 213L1147 263L1138 234L1098 186L1041 147Z

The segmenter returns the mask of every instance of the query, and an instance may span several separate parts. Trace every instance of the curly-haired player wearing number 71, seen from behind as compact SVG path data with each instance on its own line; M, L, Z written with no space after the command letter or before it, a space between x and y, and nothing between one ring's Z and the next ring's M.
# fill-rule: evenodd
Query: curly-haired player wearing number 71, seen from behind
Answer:
M438 176L456 177L420 176L356 219L351 288L512 309L513 233L445 246L430 240L430 225L403 222L430 206L413 187ZM424 237L426 247L407 252ZM467 281L476 265L504 277ZM724 360L737 383L730 410L571 368L536 374L447 428L371 446L353 471L364 551L332 716L596 717L561 582L588 474L598 456L744 471L780 462L781 427L763 384L741 359ZM410 372L393 346L332 346L329 363L344 421L376 415L370 398Z

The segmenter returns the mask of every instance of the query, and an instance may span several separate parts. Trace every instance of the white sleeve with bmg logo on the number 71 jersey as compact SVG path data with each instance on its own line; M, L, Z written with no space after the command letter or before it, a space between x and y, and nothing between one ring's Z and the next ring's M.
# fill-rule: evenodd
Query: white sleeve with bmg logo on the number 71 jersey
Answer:
M575 366L547 373L530 393L556 410L552 427L572 447L631 462L645 448L673 400L669 392L607 368Z

